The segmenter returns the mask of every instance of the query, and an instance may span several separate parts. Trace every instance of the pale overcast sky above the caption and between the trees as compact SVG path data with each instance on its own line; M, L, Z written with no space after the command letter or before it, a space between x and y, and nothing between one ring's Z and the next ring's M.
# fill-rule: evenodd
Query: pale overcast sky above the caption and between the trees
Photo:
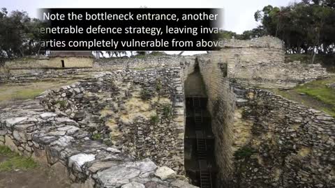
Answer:
M299 0L0 0L0 8L25 10L37 17L37 8L223 8L223 28L236 33L258 26L253 17L264 6L287 6Z

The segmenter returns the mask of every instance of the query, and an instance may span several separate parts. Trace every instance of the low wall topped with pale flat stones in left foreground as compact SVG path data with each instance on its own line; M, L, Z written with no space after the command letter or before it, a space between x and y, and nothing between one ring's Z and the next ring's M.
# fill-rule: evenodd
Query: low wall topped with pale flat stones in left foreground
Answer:
M48 164L71 187L196 188L166 166L90 139L79 123L45 112L38 100L0 109L0 144Z

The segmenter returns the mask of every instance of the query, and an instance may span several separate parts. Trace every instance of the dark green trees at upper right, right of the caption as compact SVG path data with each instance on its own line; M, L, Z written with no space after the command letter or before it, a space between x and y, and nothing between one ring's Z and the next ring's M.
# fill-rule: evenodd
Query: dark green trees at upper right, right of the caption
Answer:
M335 1L303 0L284 7L265 6L255 12L260 23L241 35L223 31L223 38L247 40L276 36L285 42L288 54L334 54Z

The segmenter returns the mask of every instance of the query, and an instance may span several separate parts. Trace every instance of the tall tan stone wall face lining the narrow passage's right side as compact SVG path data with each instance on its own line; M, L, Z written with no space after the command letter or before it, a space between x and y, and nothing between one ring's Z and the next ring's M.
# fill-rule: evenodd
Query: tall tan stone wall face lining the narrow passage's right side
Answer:
M218 165L218 183L224 186L231 178L232 166L232 125L234 123L235 97L230 81L225 77L225 67L215 58L198 58L200 73L208 95L207 109L211 113L211 127L215 136L215 158Z

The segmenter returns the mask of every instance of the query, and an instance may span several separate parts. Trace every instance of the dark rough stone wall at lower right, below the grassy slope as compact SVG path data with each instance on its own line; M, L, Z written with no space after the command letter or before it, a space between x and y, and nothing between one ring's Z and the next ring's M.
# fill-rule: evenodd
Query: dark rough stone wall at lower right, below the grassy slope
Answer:
M232 187L334 187L335 119L269 91L239 91L248 123Z

